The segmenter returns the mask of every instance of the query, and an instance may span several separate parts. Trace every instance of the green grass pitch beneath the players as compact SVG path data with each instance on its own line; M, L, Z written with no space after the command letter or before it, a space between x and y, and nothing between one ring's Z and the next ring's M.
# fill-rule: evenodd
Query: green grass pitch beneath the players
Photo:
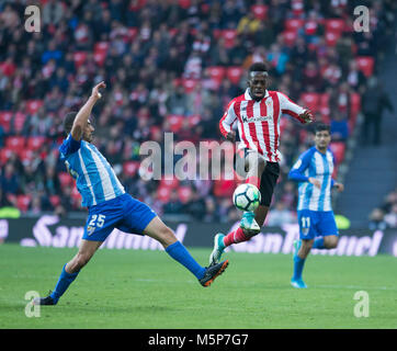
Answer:
M307 290L290 285L292 256L228 252L211 287L162 251L97 252L57 306L27 318L25 293L46 295L77 249L0 246L0 328L397 328L397 259L311 256ZM206 264L211 249L191 249ZM355 317L365 291L370 316Z

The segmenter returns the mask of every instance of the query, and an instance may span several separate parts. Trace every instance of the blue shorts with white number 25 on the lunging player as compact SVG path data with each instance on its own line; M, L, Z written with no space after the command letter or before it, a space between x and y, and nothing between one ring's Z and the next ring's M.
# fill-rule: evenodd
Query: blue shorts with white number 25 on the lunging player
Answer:
M146 204L125 193L89 208L82 238L104 241L114 228L143 235L157 214Z

